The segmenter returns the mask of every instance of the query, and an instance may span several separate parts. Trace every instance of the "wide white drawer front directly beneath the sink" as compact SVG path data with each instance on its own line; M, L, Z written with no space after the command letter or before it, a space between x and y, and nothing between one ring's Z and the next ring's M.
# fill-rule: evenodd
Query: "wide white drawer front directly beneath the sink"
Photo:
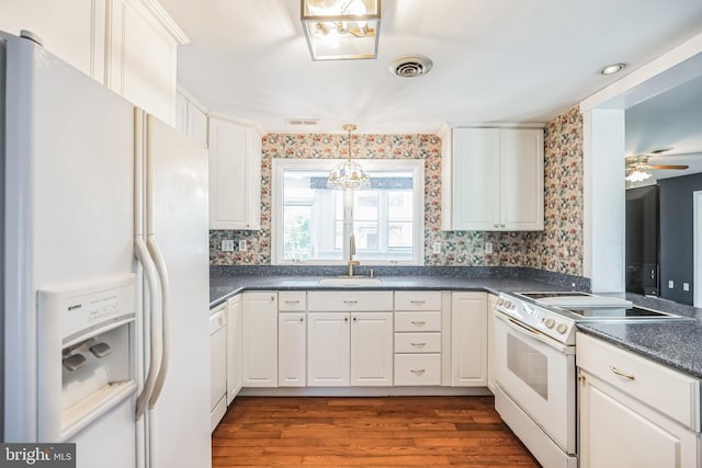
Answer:
M392 311L393 293L388 290L309 292L310 312Z

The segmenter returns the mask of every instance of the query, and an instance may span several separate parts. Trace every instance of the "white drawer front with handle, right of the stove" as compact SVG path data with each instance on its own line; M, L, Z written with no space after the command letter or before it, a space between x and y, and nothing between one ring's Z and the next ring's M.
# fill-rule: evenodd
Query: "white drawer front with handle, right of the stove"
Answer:
M578 366L686 427L700 431L700 381L610 343L577 334Z

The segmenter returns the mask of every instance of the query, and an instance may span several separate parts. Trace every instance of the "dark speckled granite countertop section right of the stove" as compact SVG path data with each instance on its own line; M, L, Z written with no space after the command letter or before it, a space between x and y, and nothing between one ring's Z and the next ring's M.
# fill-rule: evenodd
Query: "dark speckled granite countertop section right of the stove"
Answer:
M632 294L626 298L637 306L695 320L588 322L579 323L578 330L702 378L702 309Z

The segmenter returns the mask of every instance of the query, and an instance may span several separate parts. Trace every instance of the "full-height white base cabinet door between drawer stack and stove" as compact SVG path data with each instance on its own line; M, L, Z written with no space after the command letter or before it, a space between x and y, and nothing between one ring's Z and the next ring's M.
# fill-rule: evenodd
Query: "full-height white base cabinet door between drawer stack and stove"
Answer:
M487 385L487 294L453 293L451 299L451 385Z

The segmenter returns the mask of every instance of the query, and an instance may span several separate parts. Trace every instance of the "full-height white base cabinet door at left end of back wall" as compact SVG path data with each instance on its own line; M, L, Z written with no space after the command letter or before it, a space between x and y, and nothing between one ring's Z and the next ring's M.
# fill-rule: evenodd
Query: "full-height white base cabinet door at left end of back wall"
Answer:
M278 387L276 293L244 293L241 315L244 387Z

